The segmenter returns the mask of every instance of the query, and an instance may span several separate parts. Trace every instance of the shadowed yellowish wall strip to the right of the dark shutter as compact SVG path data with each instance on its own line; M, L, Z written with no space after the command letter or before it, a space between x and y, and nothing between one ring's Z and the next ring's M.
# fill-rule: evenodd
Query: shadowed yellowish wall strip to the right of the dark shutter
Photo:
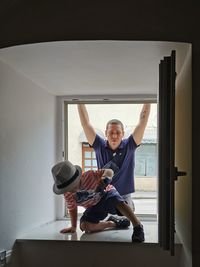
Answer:
M175 187L176 231L183 244L181 266L192 266L192 48L188 49L182 71L176 84L175 160L180 171Z

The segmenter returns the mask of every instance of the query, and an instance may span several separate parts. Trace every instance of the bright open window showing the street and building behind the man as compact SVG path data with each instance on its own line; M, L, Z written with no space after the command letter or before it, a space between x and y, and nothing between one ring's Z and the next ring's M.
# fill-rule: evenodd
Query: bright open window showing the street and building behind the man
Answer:
M152 103L152 99L144 99ZM139 121L142 101L82 101L86 102L90 121L95 131L105 138L105 126L108 120L117 118L124 124L125 136L132 134ZM83 132L77 110L78 100L65 101L65 158L80 165L83 171L96 170L95 152L89 146ZM132 194L135 213L141 220L157 223L157 103L154 99L148 125L145 129L142 144L136 149L135 189ZM79 213L83 212L79 207Z

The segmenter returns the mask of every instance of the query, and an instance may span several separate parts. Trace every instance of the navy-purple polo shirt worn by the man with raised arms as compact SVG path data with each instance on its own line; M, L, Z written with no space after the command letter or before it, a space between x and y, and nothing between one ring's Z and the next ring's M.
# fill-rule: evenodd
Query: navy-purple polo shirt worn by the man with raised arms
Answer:
M137 145L130 135L123 139L117 150L113 151L108 142L96 135L92 147L96 153L97 166L103 168L117 153L117 166L119 171L114 175L112 184L120 195L126 195L135 192L134 186L134 168L135 168L135 150Z

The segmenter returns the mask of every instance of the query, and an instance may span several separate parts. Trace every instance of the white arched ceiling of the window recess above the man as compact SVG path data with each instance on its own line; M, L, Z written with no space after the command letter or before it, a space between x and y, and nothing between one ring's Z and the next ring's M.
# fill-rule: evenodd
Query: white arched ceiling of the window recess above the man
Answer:
M190 45L149 41L63 41L0 49L0 60L53 95L156 94L159 62Z

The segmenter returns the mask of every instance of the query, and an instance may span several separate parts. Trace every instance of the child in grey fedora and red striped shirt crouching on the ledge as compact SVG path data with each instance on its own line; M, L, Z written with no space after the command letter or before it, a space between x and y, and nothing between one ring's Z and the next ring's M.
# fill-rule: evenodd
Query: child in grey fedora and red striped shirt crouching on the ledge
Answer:
M109 184L113 176L111 169L90 170L82 174L81 167L69 161L62 161L52 168L52 175L55 182L53 191L58 195L64 194L71 219L71 227L62 229L61 233L76 231L77 206L83 206L86 210L80 219L82 231L127 228L131 221L134 228L132 242L144 241L144 231L140 221L118 191ZM114 216L102 221L109 213L124 215L130 221Z

